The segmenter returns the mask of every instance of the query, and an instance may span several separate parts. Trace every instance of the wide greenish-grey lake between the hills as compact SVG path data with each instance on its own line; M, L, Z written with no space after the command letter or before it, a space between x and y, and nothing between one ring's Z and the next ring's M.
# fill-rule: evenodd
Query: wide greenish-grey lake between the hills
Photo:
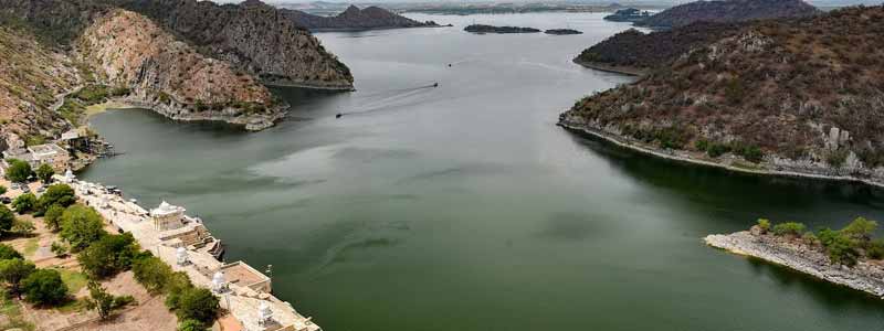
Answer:
M273 265L274 292L328 331L884 329L881 300L702 242L759 217L884 220L880 191L651 159L555 126L631 82L571 63L628 23L410 15L454 28L317 34L357 92L274 89L292 111L262 132L96 116L125 154L81 177L186 206L229 261ZM473 22L585 34L462 31Z

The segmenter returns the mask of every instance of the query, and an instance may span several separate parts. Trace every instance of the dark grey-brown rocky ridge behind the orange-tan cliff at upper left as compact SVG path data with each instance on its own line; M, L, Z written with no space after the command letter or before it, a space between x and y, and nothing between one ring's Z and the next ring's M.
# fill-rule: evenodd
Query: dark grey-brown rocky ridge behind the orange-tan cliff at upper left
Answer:
M201 53L266 84L351 89L349 68L282 11L251 0L219 6L197 0L117 0L180 34Z

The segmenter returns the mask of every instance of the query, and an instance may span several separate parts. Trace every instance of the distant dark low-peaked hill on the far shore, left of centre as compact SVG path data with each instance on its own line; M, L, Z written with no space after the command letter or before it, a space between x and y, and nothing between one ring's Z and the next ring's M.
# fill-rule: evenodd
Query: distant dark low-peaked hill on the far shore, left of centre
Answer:
M335 17L314 15L291 9L283 9L281 11L296 24L309 30L370 30L439 26L439 24L433 21L419 22L373 6L367 7L366 9L350 6L344 12Z

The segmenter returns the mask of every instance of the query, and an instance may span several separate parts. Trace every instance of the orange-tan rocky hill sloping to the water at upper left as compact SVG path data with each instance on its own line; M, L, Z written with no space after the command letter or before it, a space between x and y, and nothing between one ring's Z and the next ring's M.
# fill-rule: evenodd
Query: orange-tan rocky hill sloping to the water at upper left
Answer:
M263 128L283 115L252 76L201 55L130 11L116 9L95 19L76 47L107 85L131 88L131 100L176 119Z

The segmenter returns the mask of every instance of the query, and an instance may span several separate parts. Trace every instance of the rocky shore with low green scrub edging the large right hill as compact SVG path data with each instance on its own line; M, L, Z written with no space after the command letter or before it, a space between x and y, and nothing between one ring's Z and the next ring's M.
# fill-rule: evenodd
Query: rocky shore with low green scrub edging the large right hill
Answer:
M562 127L569 131L578 132L578 134L587 134L592 137L602 139L604 141L614 143L617 146L628 148L638 152L651 154L654 157L687 162L692 164L699 164L699 166L708 166L708 167L716 167L723 168L729 171L735 172L744 172L744 173L753 173L753 174L765 174L765 175L781 175L781 177L794 177L794 178L811 178L811 179L821 179L821 180L834 180L834 181L848 181L848 182L857 182L864 183L872 186L884 188L884 179L874 179L874 178L859 178L850 174L828 174L821 171L825 169L814 170L814 171L802 171L802 170L788 170L786 169L787 166L776 166L778 168L782 168L782 170L778 169L770 169L769 164L746 164L747 162L738 162L734 159L726 159L723 160L714 160L714 159L698 159L690 152L680 151L680 150L663 150L651 146L645 146L634 139L628 139L619 135L614 135L612 132L607 132L601 129L590 128L587 125L577 124L573 121L568 121L566 119L560 119L557 126ZM783 160L781 160L783 161ZM785 162L785 161L783 161Z

